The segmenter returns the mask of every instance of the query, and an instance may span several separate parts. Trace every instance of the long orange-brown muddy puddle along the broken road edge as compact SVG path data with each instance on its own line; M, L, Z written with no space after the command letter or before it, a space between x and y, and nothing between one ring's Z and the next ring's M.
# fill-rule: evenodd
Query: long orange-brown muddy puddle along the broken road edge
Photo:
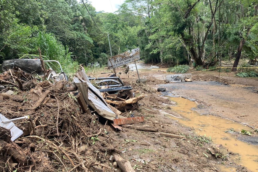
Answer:
M178 123L184 127L193 128L196 135L210 137L213 144L221 145L220 151L224 155L231 153L230 160L251 171L258 172L258 146L237 139L241 130L251 131L252 128L214 115L200 115L192 110L197 104L186 98L172 97L169 99L176 102L176 106L171 106L172 110L187 120L168 115L170 118L178 120ZM219 167L221 171L228 171L223 167Z

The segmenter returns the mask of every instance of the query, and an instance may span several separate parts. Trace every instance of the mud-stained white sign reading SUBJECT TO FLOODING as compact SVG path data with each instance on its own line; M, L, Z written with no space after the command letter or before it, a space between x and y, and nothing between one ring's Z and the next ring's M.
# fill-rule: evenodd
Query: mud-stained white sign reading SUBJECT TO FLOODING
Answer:
M140 48L134 48L131 50L131 52L128 50L110 57L108 59L108 69L123 66L127 63L135 62L136 60L140 60Z

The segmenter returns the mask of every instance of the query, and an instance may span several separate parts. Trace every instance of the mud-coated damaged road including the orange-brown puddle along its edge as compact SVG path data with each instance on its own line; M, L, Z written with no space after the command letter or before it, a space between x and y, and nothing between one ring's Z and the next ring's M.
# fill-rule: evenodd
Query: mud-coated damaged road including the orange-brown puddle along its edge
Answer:
M178 120L183 127L190 127L196 135L210 139L234 163L258 171L257 132L252 136L242 134L257 128L257 94L244 87L232 88L216 82L194 81L160 86L166 87L165 95L172 96L169 99L176 102L171 109L180 118L167 116ZM228 171L224 166L220 168ZM236 169L231 168L230 171Z

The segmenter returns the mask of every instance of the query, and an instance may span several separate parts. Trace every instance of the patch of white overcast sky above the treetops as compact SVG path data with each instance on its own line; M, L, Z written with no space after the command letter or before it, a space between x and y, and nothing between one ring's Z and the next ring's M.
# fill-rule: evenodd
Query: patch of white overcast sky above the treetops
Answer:
M89 0L96 11L105 11L106 13L114 13L125 0Z

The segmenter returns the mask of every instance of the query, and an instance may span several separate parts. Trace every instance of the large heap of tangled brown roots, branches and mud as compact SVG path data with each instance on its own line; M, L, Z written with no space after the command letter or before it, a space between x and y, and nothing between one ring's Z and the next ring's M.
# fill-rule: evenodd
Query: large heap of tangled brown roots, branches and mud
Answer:
M116 149L107 120L101 124L89 108L81 109L75 92L68 91L71 82L40 82L19 68L0 77L1 114L7 119L30 116L13 121L23 131L15 141L0 125L0 171L113 171L107 157Z

